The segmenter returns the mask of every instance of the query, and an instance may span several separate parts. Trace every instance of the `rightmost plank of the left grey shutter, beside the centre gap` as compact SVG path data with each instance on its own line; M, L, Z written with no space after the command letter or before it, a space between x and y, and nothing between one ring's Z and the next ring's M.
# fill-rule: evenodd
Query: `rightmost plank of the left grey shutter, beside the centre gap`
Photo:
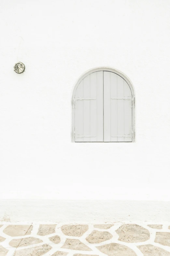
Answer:
M97 73L97 141L103 142L103 71Z

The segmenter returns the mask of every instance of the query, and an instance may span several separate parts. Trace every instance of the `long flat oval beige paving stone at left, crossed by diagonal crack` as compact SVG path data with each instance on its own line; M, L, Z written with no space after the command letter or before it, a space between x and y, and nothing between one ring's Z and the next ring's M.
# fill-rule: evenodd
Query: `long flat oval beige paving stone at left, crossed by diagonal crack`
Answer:
M20 238L20 239L12 239L9 242L9 245L12 247L23 247L27 245L34 245L38 243L42 243L43 241L39 238L35 237L26 237L26 238Z

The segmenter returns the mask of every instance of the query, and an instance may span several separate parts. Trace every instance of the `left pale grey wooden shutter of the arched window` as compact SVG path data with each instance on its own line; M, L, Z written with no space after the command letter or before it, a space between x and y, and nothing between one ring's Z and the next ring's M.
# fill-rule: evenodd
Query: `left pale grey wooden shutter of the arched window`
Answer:
M85 77L73 100L75 142L103 142L103 71Z

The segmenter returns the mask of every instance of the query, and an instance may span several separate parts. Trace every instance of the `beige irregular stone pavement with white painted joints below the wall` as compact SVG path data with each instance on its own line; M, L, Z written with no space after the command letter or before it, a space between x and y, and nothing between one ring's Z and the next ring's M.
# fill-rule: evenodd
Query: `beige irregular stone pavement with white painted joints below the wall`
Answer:
M0 256L170 256L170 225L0 223Z

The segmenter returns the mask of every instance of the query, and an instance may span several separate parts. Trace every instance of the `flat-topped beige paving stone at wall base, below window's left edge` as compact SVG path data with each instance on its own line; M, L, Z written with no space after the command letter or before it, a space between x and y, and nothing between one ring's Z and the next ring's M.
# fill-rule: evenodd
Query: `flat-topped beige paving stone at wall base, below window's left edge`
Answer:
M64 235L69 236L82 236L88 229L88 225L63 225L61 228Z

